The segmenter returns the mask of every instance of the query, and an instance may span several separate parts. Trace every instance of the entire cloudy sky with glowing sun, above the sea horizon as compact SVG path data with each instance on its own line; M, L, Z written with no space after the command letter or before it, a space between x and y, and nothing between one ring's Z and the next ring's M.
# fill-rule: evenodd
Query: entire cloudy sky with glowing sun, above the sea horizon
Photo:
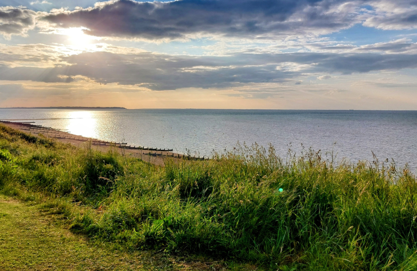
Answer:
M417 110L417 0L0 0L0 107Z

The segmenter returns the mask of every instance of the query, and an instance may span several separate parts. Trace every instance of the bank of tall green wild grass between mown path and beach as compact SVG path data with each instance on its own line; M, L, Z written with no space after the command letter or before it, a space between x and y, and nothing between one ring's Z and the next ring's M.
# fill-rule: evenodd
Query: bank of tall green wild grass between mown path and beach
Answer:
M417 269L417 183L393 164L335 165L309 150L282 160L253 146L159 168L5 126L0 149L3 194L41 192L71 231L121 249L275 270Z

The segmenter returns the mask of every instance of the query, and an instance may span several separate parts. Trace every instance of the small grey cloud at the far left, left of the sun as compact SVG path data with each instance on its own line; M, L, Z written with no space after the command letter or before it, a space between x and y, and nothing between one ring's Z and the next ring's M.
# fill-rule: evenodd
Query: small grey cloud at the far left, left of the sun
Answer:
M25 7L0 7L0 34L10 39L12 35L25 36L35 28L37 13Z

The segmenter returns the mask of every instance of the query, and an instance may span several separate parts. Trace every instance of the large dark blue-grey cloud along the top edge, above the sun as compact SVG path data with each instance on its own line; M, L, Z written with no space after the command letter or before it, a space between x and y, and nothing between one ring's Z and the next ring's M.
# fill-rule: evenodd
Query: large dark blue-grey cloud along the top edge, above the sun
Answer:
M325 34L360 23L358 4L346 0L119 0L54 10L55 27L84 27L99 37L184 39L195 35L256 39Z

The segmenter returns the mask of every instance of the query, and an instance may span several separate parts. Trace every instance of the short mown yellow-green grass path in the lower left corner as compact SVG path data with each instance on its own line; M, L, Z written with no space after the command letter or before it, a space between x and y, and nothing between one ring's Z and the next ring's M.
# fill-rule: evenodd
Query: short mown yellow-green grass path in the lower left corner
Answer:
M0 270L200 269L146 252L95 245L38 207L0 195Z

